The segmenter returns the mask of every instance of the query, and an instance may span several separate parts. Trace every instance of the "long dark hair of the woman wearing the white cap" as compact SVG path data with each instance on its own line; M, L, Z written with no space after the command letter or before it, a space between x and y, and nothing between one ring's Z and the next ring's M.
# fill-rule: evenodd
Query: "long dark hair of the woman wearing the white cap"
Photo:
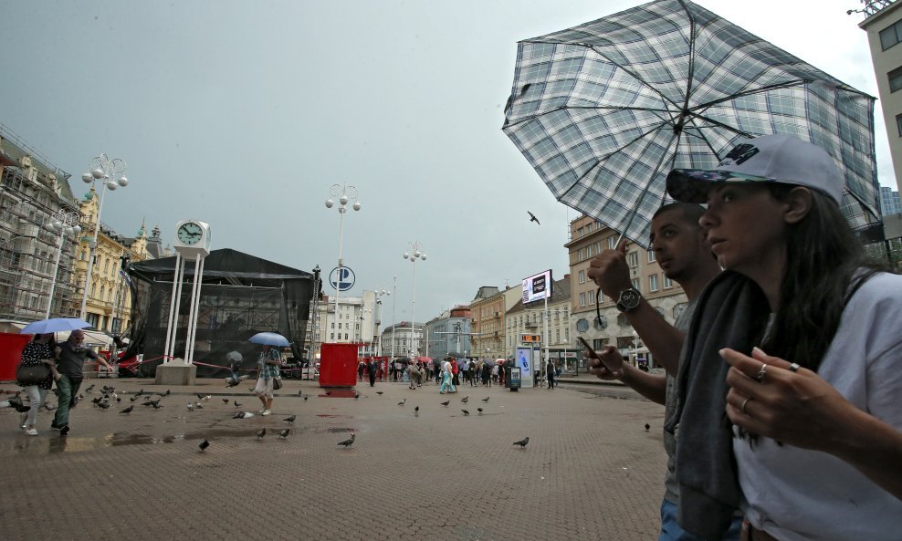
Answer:
M778 201L786 201L795 187L768 186ZM817 190L811 192L811 210L787 230L780 308L762 348L817 371L849 297L882 269L867 260L861 240L836 203Z

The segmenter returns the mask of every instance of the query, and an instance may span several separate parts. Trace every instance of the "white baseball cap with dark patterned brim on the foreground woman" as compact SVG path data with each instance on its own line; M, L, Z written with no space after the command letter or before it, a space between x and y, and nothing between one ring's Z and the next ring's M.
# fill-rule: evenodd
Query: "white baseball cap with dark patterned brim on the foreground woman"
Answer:
M667 193L676 201L705 203L712 183L782 182L823 192L843 201L845 181L836 161L821 147L781 133L739 140L713 171L675 169Z

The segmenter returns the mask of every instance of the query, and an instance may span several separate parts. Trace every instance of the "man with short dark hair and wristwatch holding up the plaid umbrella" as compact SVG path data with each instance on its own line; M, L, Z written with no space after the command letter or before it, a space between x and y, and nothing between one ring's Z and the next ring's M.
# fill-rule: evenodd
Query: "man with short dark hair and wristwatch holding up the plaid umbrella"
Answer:
M702 289L715 276L720 267L698 224L705 209L694 203L670 203L655 213L651 224L651 245L656 261L664 275L679 284L686 293L688 304L671 326L633 286L629 265L626 264L626 240L615 250L604 250L590 263L588 276L602 293L617 302L630 325L642 338L645 347L652 352L658 364L666 370L666 376L646 373L624 362L614 346L604 346L596 351L599 359L589 359L590 372L602 380L621 380L650 401L666 407L665 420L676 411L675 378L679 366L679 351L692 319L695 301ZM601 304L599 299L598 304ZM676 484L676 440L674 434L664 432L664 449L667 453L665 495L661 504L661 534L658 541L699 541L676 523L679 511L678 485ZM739 539L741 518L737 516L723 539Z

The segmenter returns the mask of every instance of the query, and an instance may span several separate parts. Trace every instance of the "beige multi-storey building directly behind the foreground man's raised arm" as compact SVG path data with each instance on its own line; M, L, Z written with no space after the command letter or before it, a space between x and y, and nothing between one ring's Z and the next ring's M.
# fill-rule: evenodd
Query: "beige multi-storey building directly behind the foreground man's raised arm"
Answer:
M570 254L573 345L579 347L576 337L582 336L594 349L611 344L630 359L635 359L636 355L650 359L629 320L614 306L614 300L596 297L598 286L587 276L592 258L605 249L614 248L618 237L619 234L588 216L571 222L571 241L564 246ZM667 323L673 325L686 307L683 289L664 276L655 253L638 244L627 245L626 262L630 266L633 286ZM596 316L596 307L601 311L601 319Z

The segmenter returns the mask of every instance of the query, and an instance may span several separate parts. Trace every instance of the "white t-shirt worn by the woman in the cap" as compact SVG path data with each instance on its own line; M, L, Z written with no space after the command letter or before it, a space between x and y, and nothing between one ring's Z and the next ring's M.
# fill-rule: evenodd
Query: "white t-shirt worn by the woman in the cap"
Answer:
M792 361L792 359L787 359ZM902 276L867 280L818 375L855 407L902 431ZM902 539L902 501L831 454L737 438L739 484L751 524L781 541Z

